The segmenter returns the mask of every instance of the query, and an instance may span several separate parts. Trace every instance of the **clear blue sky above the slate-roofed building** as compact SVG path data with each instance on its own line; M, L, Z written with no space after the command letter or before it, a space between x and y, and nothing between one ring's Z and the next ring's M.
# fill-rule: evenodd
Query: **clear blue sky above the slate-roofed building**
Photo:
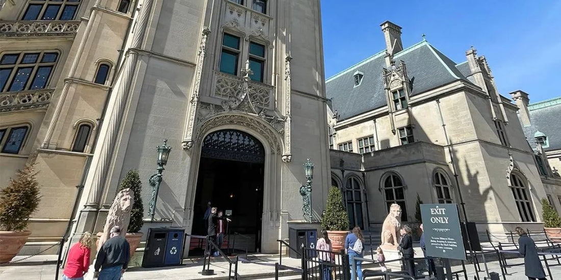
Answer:
M321 1L325 77L385 48L380 24L401 26L404 48L426 40L456 63L474 46L502 95L561 96L561 1Z

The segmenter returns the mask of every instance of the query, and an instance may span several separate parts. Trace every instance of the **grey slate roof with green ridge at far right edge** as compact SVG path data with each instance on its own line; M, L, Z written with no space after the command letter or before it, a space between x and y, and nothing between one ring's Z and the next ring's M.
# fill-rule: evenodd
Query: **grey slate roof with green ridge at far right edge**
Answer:
M534 138L536 132L545 134L549 146L544 151L561 149L561 97L549 99L528 105L530 123L528 127L522 127L530 146L536 148Z

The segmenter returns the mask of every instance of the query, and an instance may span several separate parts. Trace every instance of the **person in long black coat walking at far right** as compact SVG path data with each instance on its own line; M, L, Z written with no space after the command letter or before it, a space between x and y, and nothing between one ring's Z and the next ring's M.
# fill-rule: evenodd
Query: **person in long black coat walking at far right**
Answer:
M520 236L518 238L518 248L522 256L524 256L524 271L530 280L545 280L544 267L541 265L540 257L537 255L537 248L534 240L526 234L522 227L514 228L514 231Z

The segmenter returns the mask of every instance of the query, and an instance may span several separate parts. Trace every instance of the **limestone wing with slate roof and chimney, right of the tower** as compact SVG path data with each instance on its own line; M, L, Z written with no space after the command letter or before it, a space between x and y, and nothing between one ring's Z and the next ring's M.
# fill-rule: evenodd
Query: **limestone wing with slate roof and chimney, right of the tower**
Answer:
M485 57L471 48L458 64L424 39L403 49L401 27L381 28L387 49L326 82L332 184L350 223L378 231L394 202L417 222L418 196L457 203L484 239L521 223L540 230L540 199L557 197L561 180L540 176Z

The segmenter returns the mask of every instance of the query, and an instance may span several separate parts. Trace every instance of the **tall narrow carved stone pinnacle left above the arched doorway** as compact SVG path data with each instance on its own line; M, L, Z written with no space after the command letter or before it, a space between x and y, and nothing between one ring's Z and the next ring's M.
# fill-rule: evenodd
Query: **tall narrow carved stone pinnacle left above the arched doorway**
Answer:
M189 104L187 119L185 122L185 131L183 132L183 141L181 142L183 150L189 150L193 146L192 135L193 129L195 127L197 105L199 104L201 75L203 74L203 63L206 55L206 40L208 39L209 34L210 29L208 27L205 27L203 29L203 35L201 35L201 43L199 45L199 54L197 57L197 66L195 68L195 83L193 85L193 91L191 92L191 100Z

